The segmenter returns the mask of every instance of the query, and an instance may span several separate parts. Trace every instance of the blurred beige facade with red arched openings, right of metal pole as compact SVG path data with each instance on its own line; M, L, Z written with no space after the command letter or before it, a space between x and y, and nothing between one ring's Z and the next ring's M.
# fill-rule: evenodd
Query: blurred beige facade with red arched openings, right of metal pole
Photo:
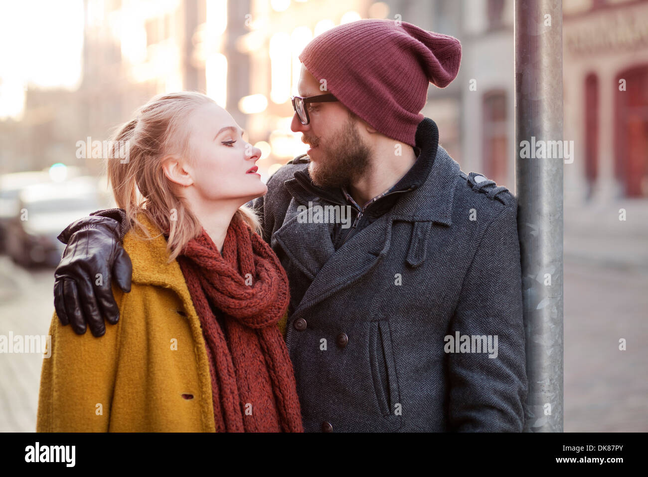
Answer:
M565 192L648 197L648 1L563 1Z

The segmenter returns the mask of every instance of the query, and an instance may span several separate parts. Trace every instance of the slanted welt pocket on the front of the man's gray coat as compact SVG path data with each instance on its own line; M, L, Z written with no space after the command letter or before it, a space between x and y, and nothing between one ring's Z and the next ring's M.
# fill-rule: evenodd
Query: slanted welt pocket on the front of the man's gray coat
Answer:
M391 352L391 333L388 321L369 323L369 363L378 410L384 416L395 411L399 402L396 368Z

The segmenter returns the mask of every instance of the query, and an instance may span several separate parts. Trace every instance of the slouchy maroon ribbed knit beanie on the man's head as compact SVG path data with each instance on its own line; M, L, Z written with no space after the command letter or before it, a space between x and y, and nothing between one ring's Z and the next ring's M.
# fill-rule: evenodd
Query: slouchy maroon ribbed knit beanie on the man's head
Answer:
M428 84L445 88L457 76L461 43L404 21L364 19L319 34L299 60L371 127L414 146Z

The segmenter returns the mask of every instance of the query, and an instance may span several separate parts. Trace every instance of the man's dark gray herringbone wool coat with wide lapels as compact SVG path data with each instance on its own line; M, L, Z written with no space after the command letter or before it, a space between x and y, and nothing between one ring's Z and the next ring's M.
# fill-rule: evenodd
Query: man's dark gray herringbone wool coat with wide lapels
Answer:
M522 430L516 201L463 173L438 138L424 119L427 176L337 251L331 224L299 217L299 206L331 204L307 158L279 169L255 202L290 280L286 343L307 431ZM475 347L459 347L464 335Z

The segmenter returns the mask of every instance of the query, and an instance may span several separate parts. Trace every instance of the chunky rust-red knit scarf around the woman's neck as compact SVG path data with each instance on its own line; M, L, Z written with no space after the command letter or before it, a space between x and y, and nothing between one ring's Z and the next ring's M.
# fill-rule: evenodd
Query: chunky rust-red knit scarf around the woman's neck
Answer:
M237 214L222 256L203 229L178 262L207 344L216 432L303 432L277 327L290 299L288 277L270 246ZM224 315L225 334L210 303Z

